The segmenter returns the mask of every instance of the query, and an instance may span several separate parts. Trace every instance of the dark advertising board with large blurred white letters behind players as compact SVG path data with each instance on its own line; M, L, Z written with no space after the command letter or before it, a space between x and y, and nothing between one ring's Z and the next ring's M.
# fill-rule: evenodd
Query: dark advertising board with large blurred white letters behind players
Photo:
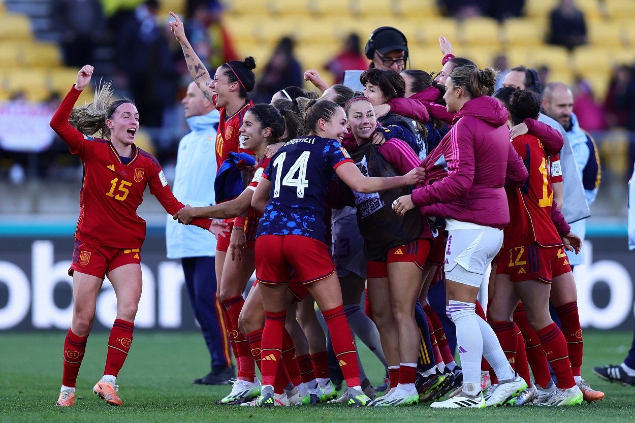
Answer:
M70 237L0 238L0 330L70 327L72 278L67 271L72 249ZM629 252L625 236L587 239L586 250L586 264L574 270L582 327L632 330L635 252ZM180 261L165 254L162 236L146 239L144 290L135 327L196 329ZM112 327L115 314L116 298L106 280L97 299L95 328Z

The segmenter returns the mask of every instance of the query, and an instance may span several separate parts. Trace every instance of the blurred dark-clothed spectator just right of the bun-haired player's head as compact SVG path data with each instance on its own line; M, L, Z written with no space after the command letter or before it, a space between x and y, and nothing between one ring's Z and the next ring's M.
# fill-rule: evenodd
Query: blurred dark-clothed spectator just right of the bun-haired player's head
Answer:
M293 44L290 37L283 37L277 44L257 86L260 102L271 102L275 93L288 86L302 86L302 68L293 55Z

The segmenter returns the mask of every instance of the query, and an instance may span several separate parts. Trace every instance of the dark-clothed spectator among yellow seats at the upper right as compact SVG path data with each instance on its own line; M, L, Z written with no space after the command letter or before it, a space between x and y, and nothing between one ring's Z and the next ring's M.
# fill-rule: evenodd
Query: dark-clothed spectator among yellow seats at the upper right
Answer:
M584 13L575 6L574 0L560 0L558 7L549 15L549 29L549 44L565 46L572 50L587 43Z

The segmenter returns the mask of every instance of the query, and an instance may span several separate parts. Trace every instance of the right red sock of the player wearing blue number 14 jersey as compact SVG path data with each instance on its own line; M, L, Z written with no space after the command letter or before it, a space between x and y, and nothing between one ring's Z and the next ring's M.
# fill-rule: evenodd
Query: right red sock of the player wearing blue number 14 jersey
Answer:
M344 307L338 305L334 309L323 311L322 316L326 321L326 326L328 326L328 332L331 334L333 352L335 352L335 358L337 358L342 373L344 373L346 386L360 386L357 350L351 335L351 328L346 321Z

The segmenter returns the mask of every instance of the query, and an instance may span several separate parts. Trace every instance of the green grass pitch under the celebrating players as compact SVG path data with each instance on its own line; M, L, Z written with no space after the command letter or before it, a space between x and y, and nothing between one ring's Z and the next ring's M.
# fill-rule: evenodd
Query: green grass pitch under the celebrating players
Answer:
M420 404L400 408L350 409L342 405L281 408L217 406L229 387L194 386L208 372L199 333L135 332L135 341L117 383L124 401L107 405L92 387L104 370L107 333L93 333L77 380L76 406L55 406L62 379L64 333L0 333L1 422L625 422L635 421L635 388L609 384L592 375L595 365L617 364L631 346L631 332L585 332L582 377L606 393L597 404L484 410L432 410ZM361 352L366 373L380 383L382 369L368 349ZM251 420L253 419L253 420Z

